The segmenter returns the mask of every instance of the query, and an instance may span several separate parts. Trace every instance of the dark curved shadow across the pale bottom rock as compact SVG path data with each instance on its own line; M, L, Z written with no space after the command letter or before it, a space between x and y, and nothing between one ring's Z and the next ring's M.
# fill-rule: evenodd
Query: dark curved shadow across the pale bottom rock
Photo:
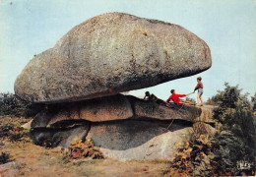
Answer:
M187 133L192 123L182 120L174 120L167 130L171 121L111 121L92 123L87 139L92 139L96 147L114 150L126 150L137 148L147 144L151 140L157 140L161 135L173 136L177 140ZM162 138L161 138L162 139ZM170 137L172 139L172 137Z

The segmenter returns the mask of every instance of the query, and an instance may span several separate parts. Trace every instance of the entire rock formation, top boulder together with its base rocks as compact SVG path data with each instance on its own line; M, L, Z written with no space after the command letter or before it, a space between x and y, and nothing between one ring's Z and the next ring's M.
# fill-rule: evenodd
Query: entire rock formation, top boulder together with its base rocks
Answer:
M106 157L169 159L193 127L213 134L206 124L211 113L117 93L192 76L211 65L208 45L187 29L108 13L76 26L36 55L17 78L15 92L46 103L24 126L31 126L36 145L68 148L92 139Z

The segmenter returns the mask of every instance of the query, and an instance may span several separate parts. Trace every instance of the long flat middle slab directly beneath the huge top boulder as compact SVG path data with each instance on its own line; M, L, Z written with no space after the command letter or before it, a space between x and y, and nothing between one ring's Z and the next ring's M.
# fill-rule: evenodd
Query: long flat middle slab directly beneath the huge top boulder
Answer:
M180 109L181 108L181 109ZM32 120L32 128L54 127L56 123L86 120L104 122L113 120L172 120L200 121L202 110L196 106L172 105L165 107L132 95L111 95L90 100L48 105Z

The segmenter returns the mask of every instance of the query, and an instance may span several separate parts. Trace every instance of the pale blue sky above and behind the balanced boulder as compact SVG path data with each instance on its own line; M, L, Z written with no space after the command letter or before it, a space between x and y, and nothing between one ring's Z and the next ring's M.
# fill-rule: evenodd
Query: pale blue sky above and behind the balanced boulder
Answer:
M230 86L256 92L256 0L0 0L0 92L14 92L24 67L74 26L108 12L123 12L182 26L205 40L212 67L198 75L129 91L190 93L201 76L203 99ZM190 98L196 98L191 94Z

